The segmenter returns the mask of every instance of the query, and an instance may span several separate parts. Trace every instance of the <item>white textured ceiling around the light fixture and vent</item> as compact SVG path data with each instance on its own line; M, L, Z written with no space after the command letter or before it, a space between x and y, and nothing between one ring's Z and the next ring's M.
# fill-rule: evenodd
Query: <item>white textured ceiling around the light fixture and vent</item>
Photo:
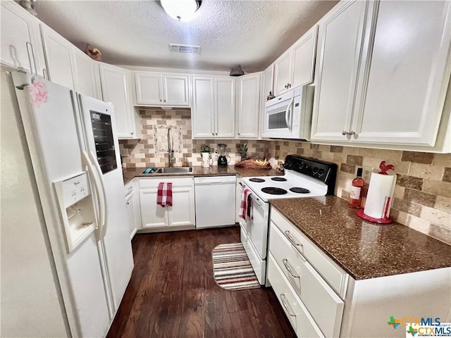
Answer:
M203 0L189 23L169 18L159 1L36 0L38 18L83 51L100 49L119 65L264 70L338 1ZM168 44L201 46L200 54Z

